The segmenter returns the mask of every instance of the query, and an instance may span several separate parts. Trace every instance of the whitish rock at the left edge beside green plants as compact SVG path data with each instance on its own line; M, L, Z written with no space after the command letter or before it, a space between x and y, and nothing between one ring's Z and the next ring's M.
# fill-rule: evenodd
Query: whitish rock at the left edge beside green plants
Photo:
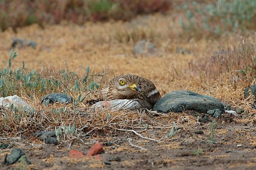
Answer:
M5 109L11 107L12 104L14 107L29 107L29 105L17 95L0 98L0 106L3 106Z

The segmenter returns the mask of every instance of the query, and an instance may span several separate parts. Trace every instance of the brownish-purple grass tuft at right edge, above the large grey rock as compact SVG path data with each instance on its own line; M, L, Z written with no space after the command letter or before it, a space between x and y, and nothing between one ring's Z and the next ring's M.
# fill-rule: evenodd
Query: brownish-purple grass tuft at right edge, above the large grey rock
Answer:
M218 80L233 86L249 86L256 80L256 43L252 39L241 39L238 46L214 52L207 58L190 60L189 68L203 70L201 82L211 84ZM207 74L209 71L214 74Z

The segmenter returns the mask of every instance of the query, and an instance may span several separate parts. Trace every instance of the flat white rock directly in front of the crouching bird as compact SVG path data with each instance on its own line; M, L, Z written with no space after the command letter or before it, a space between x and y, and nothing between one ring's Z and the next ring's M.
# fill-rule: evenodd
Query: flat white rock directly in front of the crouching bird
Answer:
M112 101L99 101L96 104L93 104L92 110L93 112L104 111L110 109L111 111L115 110L134 110L140 109L141 105L138 101L134 100L112 100Z

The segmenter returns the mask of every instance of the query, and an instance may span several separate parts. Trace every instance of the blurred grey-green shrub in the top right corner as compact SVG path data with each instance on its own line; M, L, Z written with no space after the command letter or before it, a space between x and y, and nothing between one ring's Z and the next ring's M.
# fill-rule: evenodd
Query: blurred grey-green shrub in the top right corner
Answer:
M203 19L198 20L198 17ZM188 10L186 22L180 19L180 26L186 32L205 30L216 36L253 30L255 23L255 0L218 0L213 8Z

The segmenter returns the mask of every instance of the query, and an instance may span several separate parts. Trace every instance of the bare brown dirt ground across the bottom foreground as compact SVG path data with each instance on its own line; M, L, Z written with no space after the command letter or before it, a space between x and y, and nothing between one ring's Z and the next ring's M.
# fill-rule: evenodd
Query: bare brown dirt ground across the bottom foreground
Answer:
M179 119L193 119L194 116L181 113ZM170 116L144 117L145 121L151 119L155 124L166 124L164 119ZM209 123L196 123L193 128L177 127L180 129L173 137L155 142L140 138L131 133L112 132L96 133L96 137L73 141L72 145L64 143L58 146L42 144L34 137L21 140L1 140L13 144L24 151L32 165L28 169L175 169L175 170L203 170L203 169L256 169L256 129L250 123L239 123L241 117L222 115L215 119L215 144L209 143ZM255 122L254 122L255 123ZM143 135L150 138L161 138L165 133L164 125L158 130L149 129ZM143 147L141 150L131 144ZM3 138L1 138L3 139ZM33 141L33 142L31 142ZM103 144L105 153L101 154L102 161L96 161L94 157L73 159L69 157L70 150L79 150L85 155L90 147L99 141ZM195 151L201 149L200 155ZM4 155L11 149L0 150L1 161ZM120 160L108 161L118 156ZM106 161L107 160L107 161ZM115 159L114 159L115 160ZM1 169L21 168L20 164L1 165ZM25 168L25 169L26 169Z

